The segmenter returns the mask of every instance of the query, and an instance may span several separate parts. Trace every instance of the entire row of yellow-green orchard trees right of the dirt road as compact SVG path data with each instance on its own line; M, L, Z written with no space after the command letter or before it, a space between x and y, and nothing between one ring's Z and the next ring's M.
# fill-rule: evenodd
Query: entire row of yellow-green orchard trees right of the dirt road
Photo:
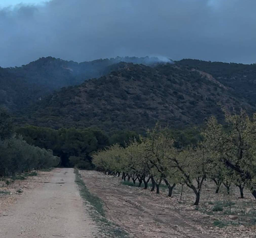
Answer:
M93 164L99 171L122 174L124 180L138 179L145 188L151 180L157 193L164 181L169 197L177 183L186 185L195 193L195 205L206 179L216 183L216 193L221 184L229 193L234 183L241 198L247 187L256 199L256 114L249 118L244 111L225 112L224 125L211 117L201 134L202 142L177 148L168 128L156 125L140 141L132 139L126 147L115 144L94 153Z

